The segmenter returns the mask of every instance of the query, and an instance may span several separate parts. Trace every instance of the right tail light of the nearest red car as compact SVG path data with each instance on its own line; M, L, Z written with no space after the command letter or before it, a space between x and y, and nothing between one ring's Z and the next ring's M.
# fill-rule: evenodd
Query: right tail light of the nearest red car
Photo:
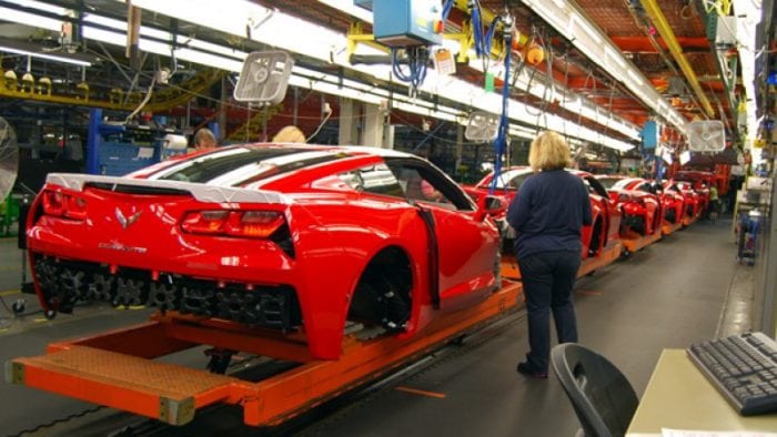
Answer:
M266 238L283 224L283 214L275 211L194 211L181 227L192 234Z

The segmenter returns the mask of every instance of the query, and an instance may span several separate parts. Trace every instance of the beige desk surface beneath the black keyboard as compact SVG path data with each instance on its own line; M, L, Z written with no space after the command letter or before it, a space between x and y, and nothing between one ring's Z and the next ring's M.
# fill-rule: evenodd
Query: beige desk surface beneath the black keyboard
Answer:
M664 349L626 435L660 435L662 428L774 433L777 413L739 416L684 349Z

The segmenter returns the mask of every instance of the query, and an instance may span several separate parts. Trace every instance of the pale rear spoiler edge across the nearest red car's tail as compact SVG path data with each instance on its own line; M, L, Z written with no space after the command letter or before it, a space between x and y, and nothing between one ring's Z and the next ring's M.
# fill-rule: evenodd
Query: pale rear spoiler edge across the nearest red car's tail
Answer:
M209 203L291 203L291 200L287 196L274 191L214 186L194 182L102 176L81 173L49 173L49 175L46 177L46 182L48 184L60 185L74 191L83 191L83 186L89 184L111 185L112 190L117 190L117 187L120 186L171 190L188 192L198 201Z

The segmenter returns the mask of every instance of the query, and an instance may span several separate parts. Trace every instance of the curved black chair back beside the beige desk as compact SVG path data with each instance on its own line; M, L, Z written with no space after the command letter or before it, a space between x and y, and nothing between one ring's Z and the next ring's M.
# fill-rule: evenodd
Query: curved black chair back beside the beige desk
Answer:
M551 362L587 437L626 434L639 398L617 367L576 343L554 347Z

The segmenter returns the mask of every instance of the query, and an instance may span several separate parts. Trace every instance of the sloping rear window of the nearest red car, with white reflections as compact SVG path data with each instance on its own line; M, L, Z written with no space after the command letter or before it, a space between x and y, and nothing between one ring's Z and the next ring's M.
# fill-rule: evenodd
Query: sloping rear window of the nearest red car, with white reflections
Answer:
M345 156L342 151L306 148L223 149L176 163L149 179L242 186Z

